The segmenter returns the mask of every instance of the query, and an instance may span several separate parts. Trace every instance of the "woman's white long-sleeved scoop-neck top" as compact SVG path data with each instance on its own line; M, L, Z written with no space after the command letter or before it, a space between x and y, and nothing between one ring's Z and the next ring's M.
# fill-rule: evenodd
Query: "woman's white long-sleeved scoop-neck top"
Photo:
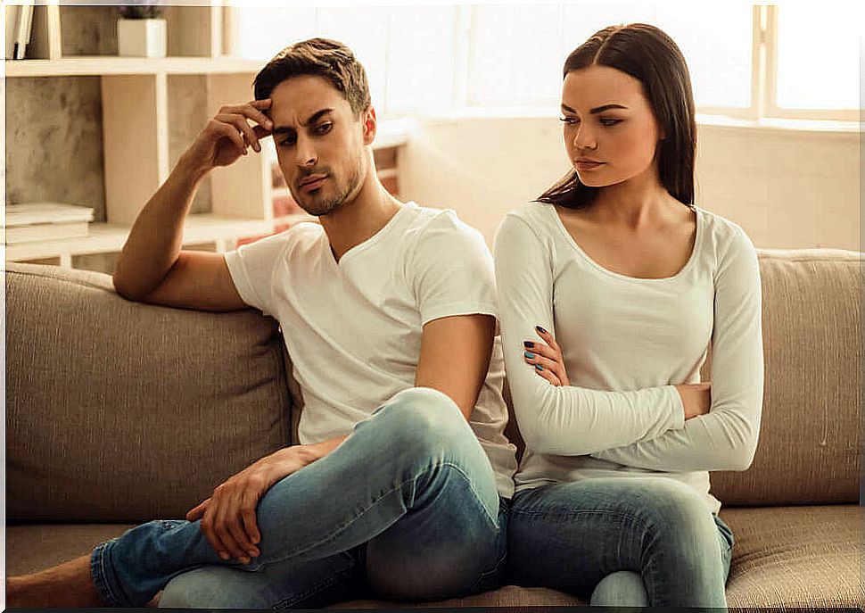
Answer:
M495 240L508 385L526 443L517 491L609 476L667 476L709 509L710 470L744 470L762 410L760 271L742 228L696 208L688 262L669 278L631 278L583 252L551 204L507 214ZM547 328L571 385L523 361ZM684 418L673 385L697 383L711 341L712 406Z

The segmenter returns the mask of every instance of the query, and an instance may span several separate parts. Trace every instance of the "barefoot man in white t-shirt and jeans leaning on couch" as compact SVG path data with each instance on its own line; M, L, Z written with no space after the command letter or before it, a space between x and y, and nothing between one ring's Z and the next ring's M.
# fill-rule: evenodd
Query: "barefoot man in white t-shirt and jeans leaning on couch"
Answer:
M311 608L498 583L515 458L489 250L451 211L383 189L366 74L347 47L285 48L255 98L223 107L181 156L114 285L130 300L278 319L303 396L301 444L230 477L186 520L11 578L9 606L143 606L164 588L162 606ZM265 137L320 225L231 253L181 251L202 178Z

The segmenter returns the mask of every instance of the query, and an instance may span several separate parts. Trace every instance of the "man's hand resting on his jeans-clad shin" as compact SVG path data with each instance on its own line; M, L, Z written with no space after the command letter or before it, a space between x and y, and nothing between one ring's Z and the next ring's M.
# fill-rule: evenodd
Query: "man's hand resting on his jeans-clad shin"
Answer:
M202 533L220 558L249 564L260 554L255 509L261 496L277 481L309 464L308 455L302 445L271 453L218 485L210 498L186 513L186 519L202 520Z

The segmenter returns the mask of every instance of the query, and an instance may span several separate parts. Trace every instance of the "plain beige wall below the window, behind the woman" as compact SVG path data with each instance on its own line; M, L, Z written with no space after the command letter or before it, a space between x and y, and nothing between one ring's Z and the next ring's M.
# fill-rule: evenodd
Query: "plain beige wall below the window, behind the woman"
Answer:
M696 199L758 247L861 249L858 133L701 125ZM556 118L461 118L418 125L400 194L453 208L488 242L509 210L564 175Z

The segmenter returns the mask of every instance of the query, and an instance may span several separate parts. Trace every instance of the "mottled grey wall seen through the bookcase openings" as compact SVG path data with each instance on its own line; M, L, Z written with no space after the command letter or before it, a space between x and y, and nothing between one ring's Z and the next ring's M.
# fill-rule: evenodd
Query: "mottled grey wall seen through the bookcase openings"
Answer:
M62 6L60 17L64 55L117 54L116 6ZM4 85L6 203L79 204L105 221L99 77L16 78ZM171 75L168 93L173 166L209 119L206 78ZM210 178L202 181L192 206L192 212L207 211Z

